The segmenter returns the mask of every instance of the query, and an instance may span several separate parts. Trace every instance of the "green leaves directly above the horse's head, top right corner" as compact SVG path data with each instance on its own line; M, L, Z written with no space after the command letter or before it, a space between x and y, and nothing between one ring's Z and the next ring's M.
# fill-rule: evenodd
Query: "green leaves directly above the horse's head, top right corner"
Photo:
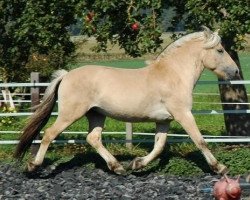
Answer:
M199 30L201 25L219 28L220 35L231 41L231 48L243 48L244 36L250 32L250 1L238 0L180 0L172 2L185 19L185 26L190 30Z

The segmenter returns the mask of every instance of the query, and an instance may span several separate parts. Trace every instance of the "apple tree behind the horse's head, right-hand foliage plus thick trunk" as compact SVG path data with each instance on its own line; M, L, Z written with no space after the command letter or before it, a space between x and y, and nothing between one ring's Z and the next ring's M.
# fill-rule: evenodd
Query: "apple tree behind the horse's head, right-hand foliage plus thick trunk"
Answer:
M227 52L237 63L243 74L237 51L243 49L244 36L250 33L250 1L245 0L178 0L171 2L176 7L175 22L185 19L189 30L197 30L201 25L219 28L222 43ZM249 109L244 85L219 85L224 110ZM229 135L250 135L249 114L224 114Z

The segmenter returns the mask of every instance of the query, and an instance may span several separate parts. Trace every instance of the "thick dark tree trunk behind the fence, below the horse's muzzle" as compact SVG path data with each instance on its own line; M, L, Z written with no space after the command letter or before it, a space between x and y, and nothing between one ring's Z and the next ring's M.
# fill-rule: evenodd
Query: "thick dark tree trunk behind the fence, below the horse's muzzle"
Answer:
M244 80L238 53L231 50L232 44L228 40L223 42L226 51L232 57L239 67L241 79ZM235 103L235 104L223 104L223 110L246 110L249 109L247 104L247 92L245 85L230 85L230 84L219 84L221 102L223 103ZM224 121L226 131L228 135L234 136L250 136L250 115L247 113L243 114L224 114Z

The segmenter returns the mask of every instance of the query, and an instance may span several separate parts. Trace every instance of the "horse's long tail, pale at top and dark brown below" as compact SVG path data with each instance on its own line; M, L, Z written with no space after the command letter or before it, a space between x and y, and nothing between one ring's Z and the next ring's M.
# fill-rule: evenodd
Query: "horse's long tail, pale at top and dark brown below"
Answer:
M47 87L42 102L34 107L36 111L29 118L28 123L23 128L19 138L19 143L16 147L14 157L22 159L32 144L32 141L40 133L41 129L49 120L57 99L57 90L63 77L67 74L66 70L58 70L53 74L54 80Z

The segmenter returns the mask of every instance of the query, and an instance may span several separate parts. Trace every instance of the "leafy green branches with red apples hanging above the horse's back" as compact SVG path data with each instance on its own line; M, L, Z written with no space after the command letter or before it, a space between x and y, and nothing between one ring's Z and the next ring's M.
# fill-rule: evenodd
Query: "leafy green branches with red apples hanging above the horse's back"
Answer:
M149 0L81 1L78 15L83 33L96 38L96 51L106 51L109 41L136 57L160 47L162 6Z

